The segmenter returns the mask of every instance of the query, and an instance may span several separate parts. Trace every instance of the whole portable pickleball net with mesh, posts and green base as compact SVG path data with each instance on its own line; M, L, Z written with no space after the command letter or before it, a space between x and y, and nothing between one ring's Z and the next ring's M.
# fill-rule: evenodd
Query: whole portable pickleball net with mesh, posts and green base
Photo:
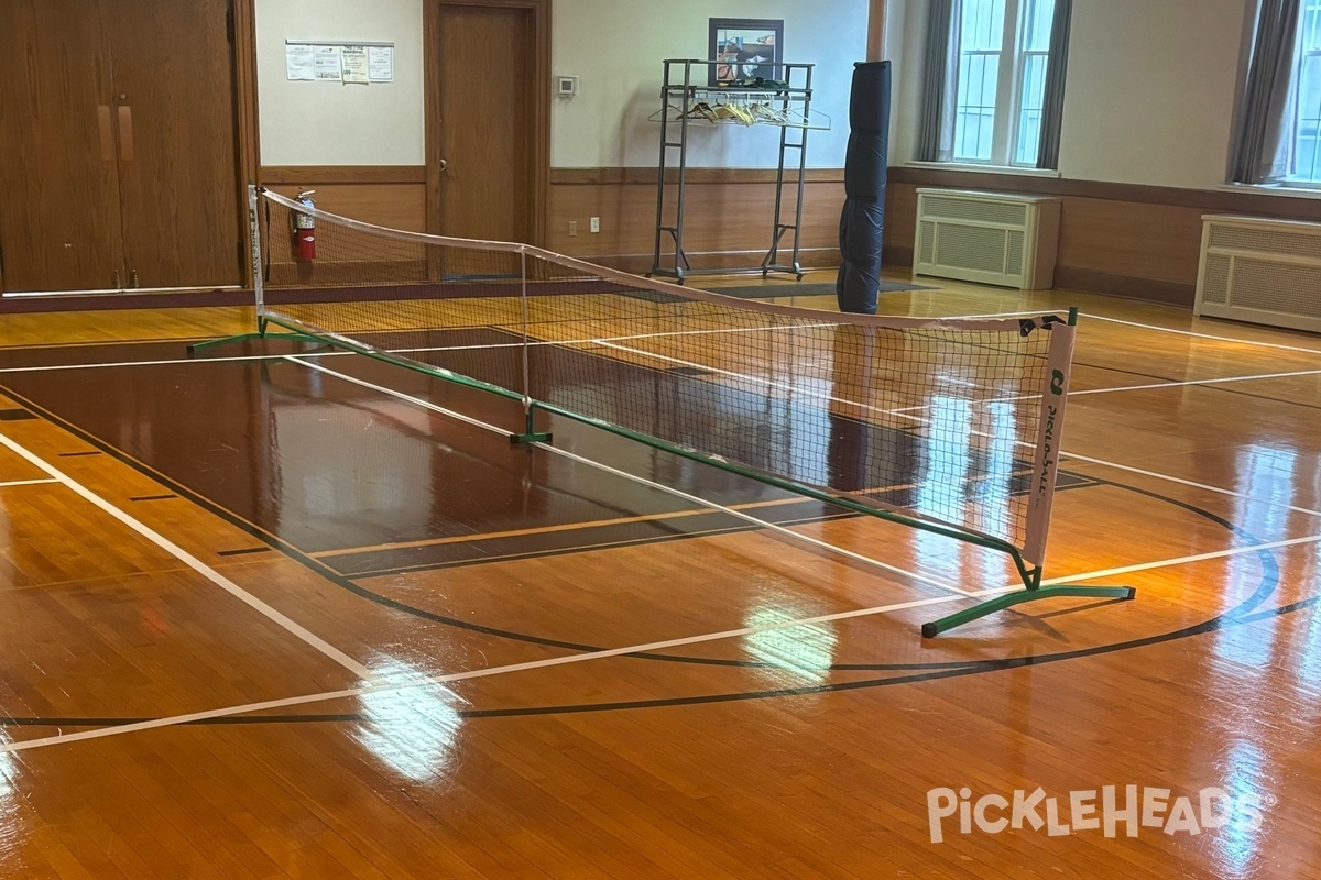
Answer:
M1001 550L1046 595L1073 315L927 319L749 302L532 245L390 230L254 187L258 334L280 327L845 509ZM291 230L316 222L316 259ZM223 342L223 340L221 340Z

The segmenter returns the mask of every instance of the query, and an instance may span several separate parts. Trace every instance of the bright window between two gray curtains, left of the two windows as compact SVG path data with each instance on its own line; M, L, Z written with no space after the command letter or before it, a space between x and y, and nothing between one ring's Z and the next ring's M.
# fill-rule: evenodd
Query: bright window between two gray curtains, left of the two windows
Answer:
M960 4L954 161L1037 164L1054 8L1054 0Z

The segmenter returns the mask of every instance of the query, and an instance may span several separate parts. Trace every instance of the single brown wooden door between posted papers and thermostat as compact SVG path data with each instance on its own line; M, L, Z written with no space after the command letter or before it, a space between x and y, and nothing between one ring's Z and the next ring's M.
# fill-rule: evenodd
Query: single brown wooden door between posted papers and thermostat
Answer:
M534 241L539 157L538 9L436 7L431 106L436 125L432 231L469 239Z

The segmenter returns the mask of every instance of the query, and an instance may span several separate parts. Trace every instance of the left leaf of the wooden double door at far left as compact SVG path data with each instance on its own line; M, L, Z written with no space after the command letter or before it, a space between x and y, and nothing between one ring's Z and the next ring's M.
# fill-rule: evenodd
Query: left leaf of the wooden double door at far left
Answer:
M100 290L122 269L96 0L0 3L0 288Z

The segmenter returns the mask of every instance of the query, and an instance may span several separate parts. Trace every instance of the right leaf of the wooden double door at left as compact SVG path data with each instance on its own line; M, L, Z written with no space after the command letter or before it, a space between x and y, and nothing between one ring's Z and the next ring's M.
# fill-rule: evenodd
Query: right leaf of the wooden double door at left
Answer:
M102 0L133 286L243 281L230 0Z

